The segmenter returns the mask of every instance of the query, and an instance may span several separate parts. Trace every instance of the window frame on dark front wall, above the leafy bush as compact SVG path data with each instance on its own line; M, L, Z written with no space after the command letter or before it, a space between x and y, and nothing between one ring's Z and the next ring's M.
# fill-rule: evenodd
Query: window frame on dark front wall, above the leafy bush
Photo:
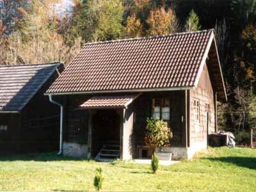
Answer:
M155 101L156 99L160 100L159 112L154 112L154 106L155 106L154 103L156 102ZM169 102L169 106L168 106L169 111L168 112L163 112L164 100L168 100L168 102ZM171 99L169 97L154 97L154 98L152 98L151 113L152 113L151 114L152 118L154 118L154 113L159 113L159 118L157 118L157 119L163 120L165 122L170 122L171 121ZM169 113L168 120L163 119L163 113Z

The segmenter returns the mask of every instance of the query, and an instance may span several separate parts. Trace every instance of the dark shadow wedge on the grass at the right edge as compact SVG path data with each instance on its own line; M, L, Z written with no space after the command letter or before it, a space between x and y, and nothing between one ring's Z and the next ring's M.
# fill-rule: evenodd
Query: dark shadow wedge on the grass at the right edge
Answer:
M204 159L208 159L210 161L220 161L220 162L224 162L224 163L232 163L232 164L236 164L237 166L256 170L256 157L228 156L228 157L209 157L209 158L204 158Z

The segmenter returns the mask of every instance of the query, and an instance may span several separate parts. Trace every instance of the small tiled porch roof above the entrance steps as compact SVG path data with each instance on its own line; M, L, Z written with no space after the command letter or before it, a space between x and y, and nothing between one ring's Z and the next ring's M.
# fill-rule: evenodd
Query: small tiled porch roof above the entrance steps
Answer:
M126 108L139 95L95 96L81 104L80 108Z

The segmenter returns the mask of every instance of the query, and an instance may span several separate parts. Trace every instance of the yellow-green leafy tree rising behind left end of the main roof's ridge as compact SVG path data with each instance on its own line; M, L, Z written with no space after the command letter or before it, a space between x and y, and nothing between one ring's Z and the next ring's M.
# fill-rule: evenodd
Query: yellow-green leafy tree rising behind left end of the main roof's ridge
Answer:
M76 4L73 25L85 42L112 40L122 33L124 6L120 0L88 0Z

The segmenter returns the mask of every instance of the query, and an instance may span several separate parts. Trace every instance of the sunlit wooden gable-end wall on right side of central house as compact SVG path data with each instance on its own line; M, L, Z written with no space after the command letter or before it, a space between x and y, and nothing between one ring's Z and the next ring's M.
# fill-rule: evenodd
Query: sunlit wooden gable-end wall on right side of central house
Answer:
M194 108L194 100L199 99L200 102L200 122L196 120ZM190 147L206 148L207 147L207 112L205 104L210 104L209 110L209 133L214 132L214 91L207 65L198 82L198 86L190 91Z

